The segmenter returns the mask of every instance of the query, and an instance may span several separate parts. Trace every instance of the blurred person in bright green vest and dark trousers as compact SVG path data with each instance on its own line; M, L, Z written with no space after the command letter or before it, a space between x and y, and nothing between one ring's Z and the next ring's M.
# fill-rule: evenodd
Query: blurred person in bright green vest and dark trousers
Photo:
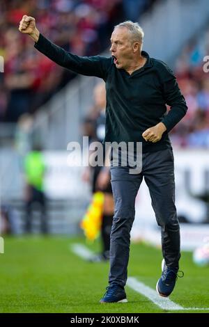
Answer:
M24 175L26 180L25 203L26 219L24 232L31 233L34 209L40 213L40 231L48 232L47 203L44 191L45 161L40 145L34 145L33 150L24 159Z

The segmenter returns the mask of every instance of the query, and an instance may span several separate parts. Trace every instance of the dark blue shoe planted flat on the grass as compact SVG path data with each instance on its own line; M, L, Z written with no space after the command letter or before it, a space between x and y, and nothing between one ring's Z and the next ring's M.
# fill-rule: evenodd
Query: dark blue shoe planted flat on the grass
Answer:
M100 303L125 303L127 302L124 287L114 284L106 287L107 292L101 298Z

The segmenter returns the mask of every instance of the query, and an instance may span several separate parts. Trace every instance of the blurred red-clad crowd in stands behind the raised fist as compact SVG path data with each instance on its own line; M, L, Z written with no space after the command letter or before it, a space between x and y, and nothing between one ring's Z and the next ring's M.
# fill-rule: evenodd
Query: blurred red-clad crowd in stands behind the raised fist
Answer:
M75 74L33 48L33 41L18 31L23 15L36 17L38 29L56 45L80 56L107 48L115 24L139 17L152 0L1 0L0 122L16 122L33 113ZM125 14L124 14L125 13Z

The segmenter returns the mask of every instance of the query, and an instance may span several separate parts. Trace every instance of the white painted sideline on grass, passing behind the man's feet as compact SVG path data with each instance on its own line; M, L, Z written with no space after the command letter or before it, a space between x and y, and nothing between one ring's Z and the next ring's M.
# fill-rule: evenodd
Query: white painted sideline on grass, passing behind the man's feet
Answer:
M93 252L89 250L86 246L83 244L72 244L69 246L69 249L78 255L79 257L82 257L82 259L88 260L90 257L92 257ZM147 285L145 285L143 282L140 282L137 280L137 278L129 277L127 278L127 286L133 289L135 292L138 292L146 298L148 298L150 301L155 303L158 307L160 307L162 310L209 310L209 308L183 308L181 305L176 304L175 302L169 300L169 298L164 298L157 294L157 292L154 289L151 289Z

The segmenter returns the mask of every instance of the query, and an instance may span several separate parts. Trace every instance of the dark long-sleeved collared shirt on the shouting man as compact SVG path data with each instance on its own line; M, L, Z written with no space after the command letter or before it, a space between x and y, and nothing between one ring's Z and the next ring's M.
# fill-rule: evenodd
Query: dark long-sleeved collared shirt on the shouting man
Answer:
M142 142L143 152L171 147L168 132L183 118L187 105L176 77L165 63L142 51L142 56L147 58L146 64L130 75L116 68L111 57L76 56L54 45L42 34L35 47L62 67L104 79L107 90L104 141ZM166 104L171 106L168 114ZM163 122L167 131L159 142L146 142L143 132L158 122Z

